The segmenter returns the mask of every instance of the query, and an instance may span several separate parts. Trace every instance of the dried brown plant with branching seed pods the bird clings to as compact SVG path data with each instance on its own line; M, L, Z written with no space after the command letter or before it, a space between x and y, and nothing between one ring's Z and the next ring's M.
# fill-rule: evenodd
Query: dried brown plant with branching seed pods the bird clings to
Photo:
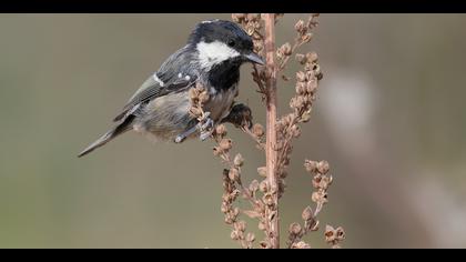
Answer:
M318 57L315 52L306 54L295 53L304 43L308 43L313 38L313 29L317 26L318 14L311 14L307 22L298 20L294 26L297 33L294 43L285 42L275 49L275 23L283 14L274 13L233 13L232 19L241 24L245 32L251 36L254 52L265 57L264 67L253 66L253 80L257 84L257 92L261 93L262 102L266 109L266 128L260 123L252 124L252 112L247 107L237 104L232 109L233 117L229 117L226 122L241 128L244 133L251 137L259 149L264 150L265 167L257 168L257 173L262 181L253 180L249 185L243 184L241 179L244 159L237 153L231 158L232 140L227 139L226 128L219 125L213 132L216 142L214 155L221 158L227 165L223 172L224 194L222 198L222 212L225 214L225 223L232 225L231 238L237 241L242 248L253 248L255 235L246 232L246 222L240 220L239 215L244 214L250 219L255 219L257 228L265 233L265 238L259 242L262 249L280 249L280 214L278 200L285 192L287 168L291 163L293 141L301 135L301 124L310 121L313 102L316 99L318 81L323 78ZM295 54L296 61L303 69L296 72L295 95L290 101L291 113L277 118L277 75L283 73L291 57ZM282 75L283 80L290 81L291 78ZM199 90L200 94L201 90ZM195 97L195 95L194 95ZM194 101L202 102L200 95ZM202 110L193 110L202 112ZM232 114L232 113L231 113ZM199 120L203 120L201 113ZM264 143L265 138L265 143ZM306 160L304 167L313 175L312 185L315 191L312 193L312 201L315 208L307 205L303 213L303 223L292 223L287 229L288 238L286 245L291 249L310 249L303 238L313 231L318 230L317 215L323 205L328 202L327 189L333 179L327 161ZM251 206L241 209L234 206L237 196L241 195ZM341 242L345 239L343 228L326 225L325 241L332 248L341 248Z

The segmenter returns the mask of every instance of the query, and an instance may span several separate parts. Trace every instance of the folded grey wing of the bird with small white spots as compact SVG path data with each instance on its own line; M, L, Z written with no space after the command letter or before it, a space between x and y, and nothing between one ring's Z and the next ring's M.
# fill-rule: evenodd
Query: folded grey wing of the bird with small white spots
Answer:
M158 74L151 75L145 82L138 89L138 91L131 97L128 103L124 105L123 111L113 119L113 121L120 121L128 115L134 113L142 104L152 101L155 98L163 97L168 93L178 93L190 89L195 84L195 77L190 78L169 78L166 82L156 77Z

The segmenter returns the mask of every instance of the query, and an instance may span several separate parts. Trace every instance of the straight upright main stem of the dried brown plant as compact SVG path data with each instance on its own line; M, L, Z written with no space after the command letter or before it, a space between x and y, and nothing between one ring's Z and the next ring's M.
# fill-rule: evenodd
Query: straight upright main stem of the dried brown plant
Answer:
M267 223L270 228L270 241L273 249L280 248L278 228L278 183L276 178L276 66L275 66L275 14L263 13L265 24L265 59L266 59L266 142L265 158L267 181L271 187L273 203L266 205L266 214L271 218ZM272 215L274 214L274 215Z

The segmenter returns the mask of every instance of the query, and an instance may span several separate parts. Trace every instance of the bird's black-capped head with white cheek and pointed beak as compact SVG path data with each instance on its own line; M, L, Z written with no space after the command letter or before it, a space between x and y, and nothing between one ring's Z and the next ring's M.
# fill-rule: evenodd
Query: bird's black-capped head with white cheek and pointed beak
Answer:
M224 20L211 20L199 23L189 40L201 67L211 69L224 62L252 62L264 64L262 58L253 51L253 41L236 23Z

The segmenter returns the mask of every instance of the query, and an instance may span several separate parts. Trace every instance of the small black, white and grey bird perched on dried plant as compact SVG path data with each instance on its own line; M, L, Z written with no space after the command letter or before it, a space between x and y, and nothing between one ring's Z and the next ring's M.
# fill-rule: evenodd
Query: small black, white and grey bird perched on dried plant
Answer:
M220 19L199 22L185 46L172 53L129 99L113 119L113 128L78 157L131 130L175 143L196 137L200 121L190 114L189 94L196 84L204 87L210 97L203 105L209 119L202 128L209 124L212 129L230 118L239 94L240 67L247 62L264 66L254 52L252 38L240 26Z

